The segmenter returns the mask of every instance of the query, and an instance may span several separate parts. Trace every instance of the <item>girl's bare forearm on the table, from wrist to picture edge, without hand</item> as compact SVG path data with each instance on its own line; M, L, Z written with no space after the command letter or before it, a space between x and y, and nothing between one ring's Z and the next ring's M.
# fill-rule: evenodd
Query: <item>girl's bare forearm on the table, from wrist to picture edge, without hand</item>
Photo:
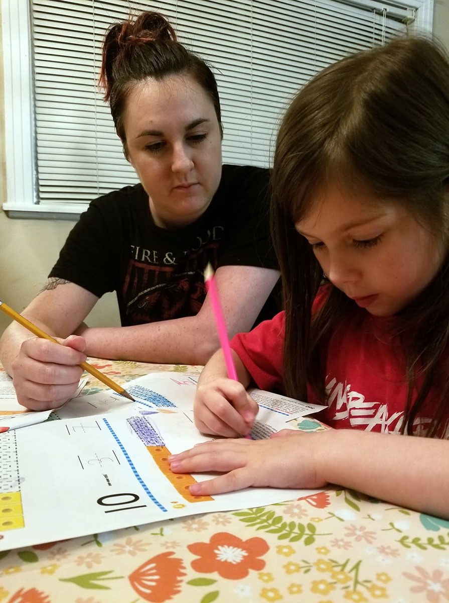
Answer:
M332 453L320 458L327 482L449 518L449 441L351 429L331 438Z

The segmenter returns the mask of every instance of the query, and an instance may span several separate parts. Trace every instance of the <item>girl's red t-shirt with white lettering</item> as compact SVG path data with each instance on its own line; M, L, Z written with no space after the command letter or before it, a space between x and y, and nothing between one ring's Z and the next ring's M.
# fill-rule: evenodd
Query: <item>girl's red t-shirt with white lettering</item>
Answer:
M322 305L329 289L322 287L313 312ZM356 308L335 330L327 347L327 409L321 421L334 428L398 432L403 421L408 385L405 359L398 343L391 339L391 317L373 317ZM259 324L250 333L239 333L231 341L256 385L262 390L283 391L284 312ZM420 387L418 380L417 386ZM424 435L438 401L434 388L417 417L414 430ZM308 402L321 404L308 387Z

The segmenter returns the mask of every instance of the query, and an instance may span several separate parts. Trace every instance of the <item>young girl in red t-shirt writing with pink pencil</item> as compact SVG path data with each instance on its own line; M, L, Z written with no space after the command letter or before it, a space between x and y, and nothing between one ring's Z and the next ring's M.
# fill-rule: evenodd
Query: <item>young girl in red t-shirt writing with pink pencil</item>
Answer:
M399 39L318 74L277 138L272 226L285 312L199 381L202 432L249 433L245 388L325 403L335 429L217 440L172 457L191 487L339 484L449 517L449 62ZM421 436L421 437L418 437Z

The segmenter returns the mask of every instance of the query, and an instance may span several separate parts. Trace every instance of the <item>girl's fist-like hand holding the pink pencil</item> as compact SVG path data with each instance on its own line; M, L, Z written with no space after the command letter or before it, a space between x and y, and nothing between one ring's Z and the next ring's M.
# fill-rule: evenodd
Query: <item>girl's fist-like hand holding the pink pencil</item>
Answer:
M227 438L248 435L258 409L258 404L240 382L224 377L200 383L193 403L195 425L199 431Z

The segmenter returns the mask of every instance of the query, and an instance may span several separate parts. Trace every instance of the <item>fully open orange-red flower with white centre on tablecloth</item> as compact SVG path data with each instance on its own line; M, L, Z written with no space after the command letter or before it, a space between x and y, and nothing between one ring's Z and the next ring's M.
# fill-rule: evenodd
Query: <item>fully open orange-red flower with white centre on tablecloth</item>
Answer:
M196 572L218 572L221 578L232 580L245 578L251 569L264 569L265 561L259 557L269 549L263 538L242 540L228 532L218 532L209 543L196 542L187 548L194 555L199 555L199 559L191 563Z

